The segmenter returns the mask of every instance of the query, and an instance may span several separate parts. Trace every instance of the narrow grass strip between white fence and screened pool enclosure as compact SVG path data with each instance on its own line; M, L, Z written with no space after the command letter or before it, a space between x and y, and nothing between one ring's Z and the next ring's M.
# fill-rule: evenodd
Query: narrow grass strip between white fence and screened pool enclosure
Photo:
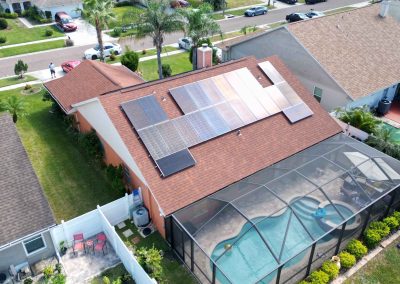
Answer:
M158 232L155 232L148 236L147 238L143 239L140 237L137 228L131 224L128 220L125 221L125 224L127 224L127 227L123 229L118 229L115 227L115 230L117 231L118 235L121 237L121 239L126 243L129 242L132 243L132 239L134 237L139 237L140 241L138 244L134 245L137 248L145 247L145 248L151 248L154 247L162 250L164 252L164 257L162 260L162 267L163 267L163 275L162 275L162 280L159 281L159 283L163 284L169 284L169 283L184 283L184 284L191 284L191 283L197 283L193 276L186 270L183 264L180 264L177 259L175 259L173 252L165 242L165 240L161 237L161 235ZM127 239L124 237L122 234L123 231L126 229L131 229L133 232L133 235Z

